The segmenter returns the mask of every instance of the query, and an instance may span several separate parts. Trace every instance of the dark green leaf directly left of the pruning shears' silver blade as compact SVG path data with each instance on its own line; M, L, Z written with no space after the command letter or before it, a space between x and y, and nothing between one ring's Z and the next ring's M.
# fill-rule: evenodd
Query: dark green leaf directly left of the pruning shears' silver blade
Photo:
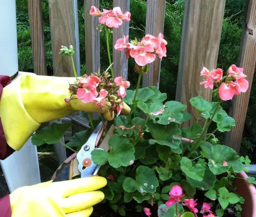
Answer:
M66 145L70 148L76 148L76 150L79 151L91 136L91 132L91 129L77 132Z

